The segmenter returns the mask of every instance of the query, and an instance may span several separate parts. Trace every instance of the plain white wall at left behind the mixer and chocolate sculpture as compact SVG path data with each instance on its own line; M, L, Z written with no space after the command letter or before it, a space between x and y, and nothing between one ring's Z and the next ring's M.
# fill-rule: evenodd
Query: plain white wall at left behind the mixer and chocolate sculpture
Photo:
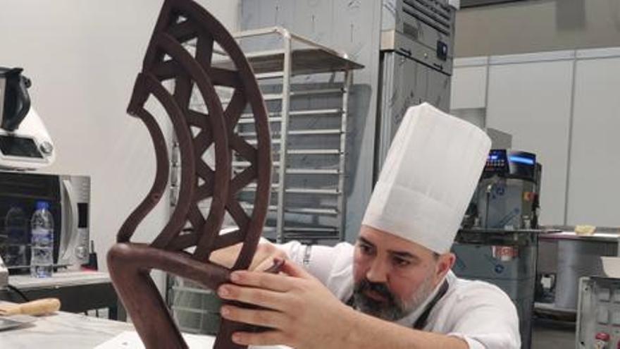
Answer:
M201 0L230 30L239 1ZM106 269L118 228L151 187L154 154L141 121L125 114L163 1L3 0L0 66L32 79L33 105L57 150L46 172L91 176L91 238ZM161 116L161 113L159 113ZM166 221L166 200L136 238L149 241Z

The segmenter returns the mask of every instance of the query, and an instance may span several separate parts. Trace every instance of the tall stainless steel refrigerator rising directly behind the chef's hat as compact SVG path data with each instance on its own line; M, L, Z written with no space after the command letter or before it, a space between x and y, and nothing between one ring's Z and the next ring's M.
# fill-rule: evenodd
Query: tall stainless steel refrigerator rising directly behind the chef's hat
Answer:
M448 0L383 0L375 177L409 106L450 111L456 8Z

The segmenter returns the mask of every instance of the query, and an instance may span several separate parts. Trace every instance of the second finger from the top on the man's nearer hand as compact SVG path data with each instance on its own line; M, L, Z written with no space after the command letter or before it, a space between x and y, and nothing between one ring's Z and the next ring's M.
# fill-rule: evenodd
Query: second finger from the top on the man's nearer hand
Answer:
M287 298L287 295L282 292L237 286L231 283L220 286L218 295L225 300L237 300L273 310L284 310L284 300Z

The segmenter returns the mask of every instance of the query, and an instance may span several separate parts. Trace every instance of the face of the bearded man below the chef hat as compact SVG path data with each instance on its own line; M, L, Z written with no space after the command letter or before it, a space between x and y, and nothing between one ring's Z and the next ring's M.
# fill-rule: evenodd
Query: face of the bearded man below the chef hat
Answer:
M354 252L354 300L366 314L388 321L406 316L428 298L454 255L435 255L396 235L362 226Z

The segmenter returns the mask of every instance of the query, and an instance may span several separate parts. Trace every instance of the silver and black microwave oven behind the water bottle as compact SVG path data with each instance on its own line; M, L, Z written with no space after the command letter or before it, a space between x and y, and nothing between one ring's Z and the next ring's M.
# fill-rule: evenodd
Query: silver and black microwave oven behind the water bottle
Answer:
M88 262L90 178L0 171L0 256L11 274L30 269L30 217L35 203L54 216L54 264Z

